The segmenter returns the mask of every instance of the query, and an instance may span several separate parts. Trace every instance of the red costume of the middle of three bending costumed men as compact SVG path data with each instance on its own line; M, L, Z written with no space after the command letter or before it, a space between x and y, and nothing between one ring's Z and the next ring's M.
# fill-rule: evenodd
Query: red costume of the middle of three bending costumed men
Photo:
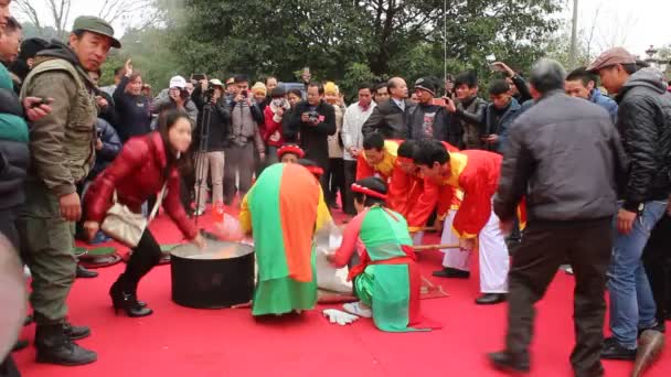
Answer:
M447 142L443 146L448 152L459 151ZM456 187L444 188L430 179L424 177L417 170L414 174L408 174L401 169L400 164L403 161L402 157L397 158L396 164L392 172L390 190L387 193L387 205L391 209L400 213L407 219L409 231L418 231L426 225L429 216L436 208L443 208L438 212L445 218L448 209L459 207L459 196ZM411 162L411 161L408 161ZM445 190L450 190L455 193L451 195L441 195Z

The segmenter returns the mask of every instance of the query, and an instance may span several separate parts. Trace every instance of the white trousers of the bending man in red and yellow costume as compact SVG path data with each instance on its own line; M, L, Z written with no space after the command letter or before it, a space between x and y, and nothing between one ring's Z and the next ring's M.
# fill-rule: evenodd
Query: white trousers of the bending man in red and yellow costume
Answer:
M452 230L452 222L457 211L450 209L445 217L440 244L458 245L459 236ZM487 225L478 235L480 255L480 291L482 293L507 293L510 256L505 238L499 228L499 217L491 213ZM459 249L443 249L445 257L443 266L461 271L469 271L470 251Z

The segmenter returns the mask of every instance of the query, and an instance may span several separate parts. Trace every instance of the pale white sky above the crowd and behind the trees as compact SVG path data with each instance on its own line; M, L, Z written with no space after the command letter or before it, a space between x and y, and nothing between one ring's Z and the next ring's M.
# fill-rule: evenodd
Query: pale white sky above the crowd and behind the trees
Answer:
M39 7L46 0L31 0ZM71 24L77 15L97 14L104 0L72 0ZM563 0L566 9L562 15L568 20L573 0ZM653 44L671 44L670 0L579 0L578 29L583 35L593 35L590 50L598 53L615 45L622 45L632 54L645 56L645 51ZM14 8L14 14L21 18ZM597 17L598 15L598 17ZM68 25L70 26L70 25ZM118 34L125 25L114 24Z

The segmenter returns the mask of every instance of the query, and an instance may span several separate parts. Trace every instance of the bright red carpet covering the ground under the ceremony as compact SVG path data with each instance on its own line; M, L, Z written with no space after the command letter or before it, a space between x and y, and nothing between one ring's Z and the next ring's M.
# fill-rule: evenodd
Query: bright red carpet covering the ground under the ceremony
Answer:
M209 222L207 216L202 220ZM162 243L181 234L164 217L151 228ZM436 241L427 237L426 243ZM420 256L427 277L440 265L436 251ZM341 327L319 310L300 317L257 322L249 310L193 310L170 300L170 267L157 267L142 280L139 297L155 314L115 316L107 290L124 263L99 269L97 279L79 279L70 295L71 321L93 330L81 344L98 352L98 362L82 367L34 363L34 349L14 354L23 376L503 376L490 369L484 354L503 344L505 305L481 308L477 271L470 280L434 280L448 298L423 300L424 313L440 321L430 333L390 334L369 320ZM573 376L568 355L574 342L569 276L557 273L537 305L531 376ZM321 306L338 308L336 305ZM25 327L32 341L34 325ZM671 376L671 353L646 376ZM631 363L607 362L606 376L628 376Z

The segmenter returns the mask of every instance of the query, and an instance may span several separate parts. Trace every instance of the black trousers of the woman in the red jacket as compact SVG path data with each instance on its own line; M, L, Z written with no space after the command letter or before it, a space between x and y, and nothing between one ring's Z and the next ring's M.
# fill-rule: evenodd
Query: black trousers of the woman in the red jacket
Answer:
M151 231L145 229L138 246L132 248L126 270L119 276L117 283L125 292L136 292L140 279L161 261L161 246L156 241Z

